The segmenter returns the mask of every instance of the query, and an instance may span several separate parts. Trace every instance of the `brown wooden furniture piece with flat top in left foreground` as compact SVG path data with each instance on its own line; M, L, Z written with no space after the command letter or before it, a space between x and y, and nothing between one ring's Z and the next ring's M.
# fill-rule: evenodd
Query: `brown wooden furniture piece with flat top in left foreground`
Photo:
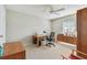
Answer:
M2 59L24 59L25 48L21 42L10 42L3 44Z

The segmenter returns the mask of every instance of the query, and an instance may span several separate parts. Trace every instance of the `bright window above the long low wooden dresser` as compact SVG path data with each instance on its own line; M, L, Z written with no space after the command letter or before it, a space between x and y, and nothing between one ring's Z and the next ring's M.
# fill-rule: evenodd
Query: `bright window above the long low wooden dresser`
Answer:
M63 19L63 33L65 35L77 36L75 14Z

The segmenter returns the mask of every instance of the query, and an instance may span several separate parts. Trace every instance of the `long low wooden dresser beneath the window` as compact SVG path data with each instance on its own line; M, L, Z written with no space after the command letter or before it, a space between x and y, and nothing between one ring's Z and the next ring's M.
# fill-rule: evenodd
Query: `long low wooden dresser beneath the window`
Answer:
M64 34L58 34L57 41L62 41L62 42L66 42L66 43L70 43L70 44L76 44L77 37L67 36L67 35L64 35Z

